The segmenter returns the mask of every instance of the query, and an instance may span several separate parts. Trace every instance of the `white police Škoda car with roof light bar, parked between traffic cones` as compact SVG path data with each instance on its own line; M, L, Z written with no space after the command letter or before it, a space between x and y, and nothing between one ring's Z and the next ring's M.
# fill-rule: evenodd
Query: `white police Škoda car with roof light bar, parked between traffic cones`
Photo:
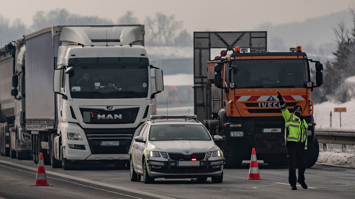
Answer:
M222 150L196 115L152 115L134 138L130 155L131 181L155 178L197 178L222 183Z

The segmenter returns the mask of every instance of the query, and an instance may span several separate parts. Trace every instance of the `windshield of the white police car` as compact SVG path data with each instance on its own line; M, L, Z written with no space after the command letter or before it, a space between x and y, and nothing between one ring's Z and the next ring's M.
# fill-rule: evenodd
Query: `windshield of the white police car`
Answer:
M211 136L202 125L166 124L152 125L149 133L150 141L198 140L208 141Z

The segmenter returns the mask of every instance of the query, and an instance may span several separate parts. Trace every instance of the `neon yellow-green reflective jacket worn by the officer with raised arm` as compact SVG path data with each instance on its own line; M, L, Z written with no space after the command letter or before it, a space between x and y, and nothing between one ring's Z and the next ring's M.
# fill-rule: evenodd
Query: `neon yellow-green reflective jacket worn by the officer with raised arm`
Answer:
M307 149L307 129L308 125L304 119L290 114L289 110L285 107L282 109L282 115L286 121L285 123L285 144L287 141L303 142L305 149Z

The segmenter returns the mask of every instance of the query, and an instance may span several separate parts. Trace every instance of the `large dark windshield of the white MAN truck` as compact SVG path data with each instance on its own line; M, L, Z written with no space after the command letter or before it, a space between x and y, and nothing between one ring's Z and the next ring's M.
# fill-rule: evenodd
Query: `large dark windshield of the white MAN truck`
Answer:
M148 95L148 58L71 58L72 98L145 98Z

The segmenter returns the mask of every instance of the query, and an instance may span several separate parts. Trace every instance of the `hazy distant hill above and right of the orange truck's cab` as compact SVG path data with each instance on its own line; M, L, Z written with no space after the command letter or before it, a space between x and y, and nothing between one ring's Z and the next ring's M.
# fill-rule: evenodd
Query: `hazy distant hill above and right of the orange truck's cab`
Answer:
M290 13L292 18L296 17L296 13L294 16L291 15L292 13ZM268 23L269 51L287 51L297 43L309 57L317 58L318 54L324 62L333 56L332 52L335 50L333 27L342 20L347 28L353 27L353 16L349 10L309 18L302 22L280 25ZM258 25L255 30L267 30L267 23Z

